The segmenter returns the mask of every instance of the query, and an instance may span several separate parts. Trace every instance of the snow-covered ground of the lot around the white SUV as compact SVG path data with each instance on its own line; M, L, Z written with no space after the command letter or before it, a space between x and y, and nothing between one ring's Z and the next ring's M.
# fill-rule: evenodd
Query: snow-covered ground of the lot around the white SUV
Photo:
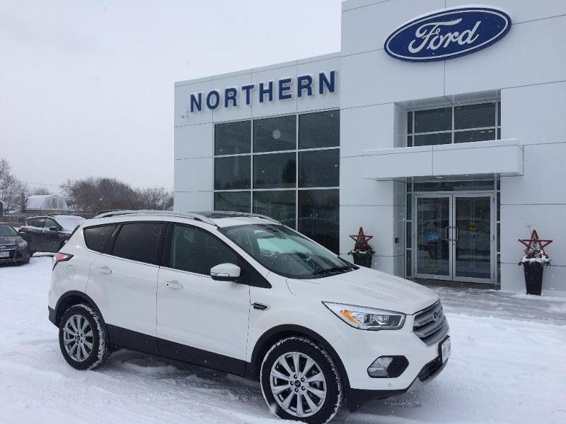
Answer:
M281 422L258 384L221 372L131 351L72 369L47 320L49 283L49 258L0 266L0 423ZM566 300L439 293L452 335L444 372L335 423L566 423Z

